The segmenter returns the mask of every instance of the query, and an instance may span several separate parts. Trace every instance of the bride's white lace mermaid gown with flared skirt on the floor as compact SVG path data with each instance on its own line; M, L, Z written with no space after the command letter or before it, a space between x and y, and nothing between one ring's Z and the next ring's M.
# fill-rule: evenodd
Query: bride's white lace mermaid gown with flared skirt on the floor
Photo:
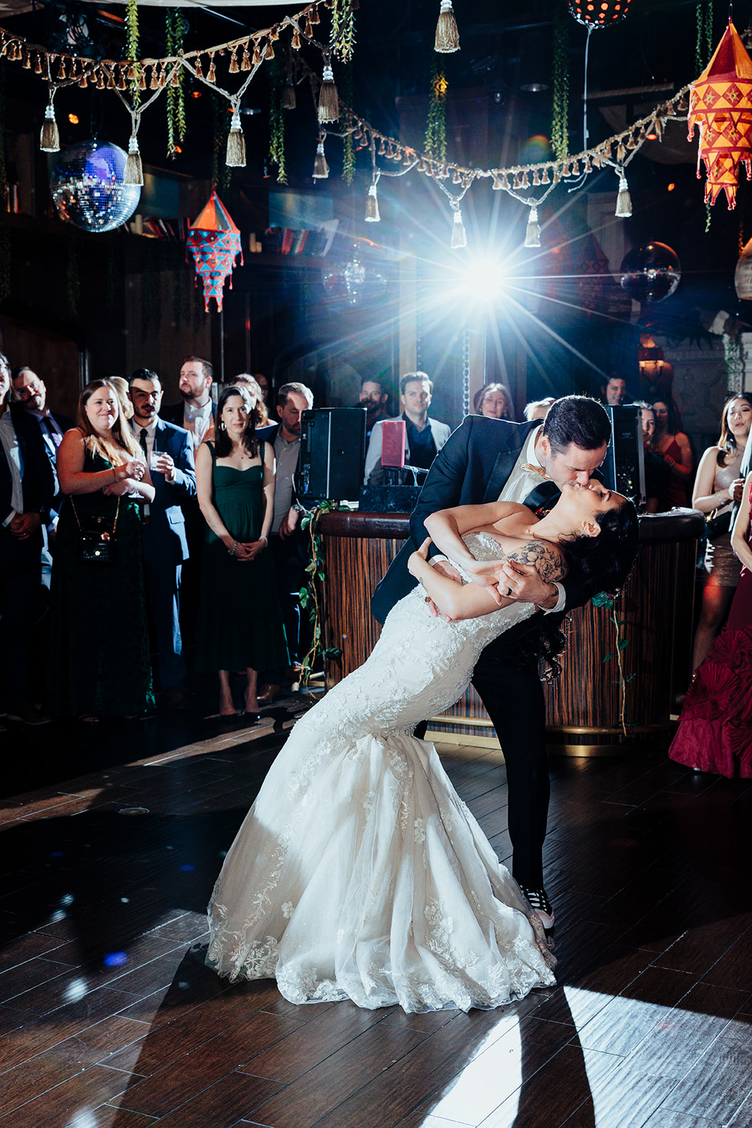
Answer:
M499 556L492 537L465 539ZM433 746L412 735L532 610L446 623L419 587L396 605L368 661L272 765L212 893L210 967L276 978L292 1003L410 1012L501 1006L555 981L538 917Z

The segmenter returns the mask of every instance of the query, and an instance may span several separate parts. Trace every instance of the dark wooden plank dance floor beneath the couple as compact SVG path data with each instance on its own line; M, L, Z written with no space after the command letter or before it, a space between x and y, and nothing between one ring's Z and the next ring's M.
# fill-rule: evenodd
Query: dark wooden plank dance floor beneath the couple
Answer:
M202 962L291 717L0 734L0 1126L750 1128L752 782L559 759L558 986L503 1010L297 1007ZM448 750L506 858L504 768Z

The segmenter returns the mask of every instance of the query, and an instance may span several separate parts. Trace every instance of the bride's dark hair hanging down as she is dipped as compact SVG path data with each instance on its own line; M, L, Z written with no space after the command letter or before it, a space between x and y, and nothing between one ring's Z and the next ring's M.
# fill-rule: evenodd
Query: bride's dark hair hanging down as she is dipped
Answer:
M627 500L595 518L598 537L580 536L563 540L567 575L584 588L590 599L598 591L616 591L629 575L639 537L637 510Z

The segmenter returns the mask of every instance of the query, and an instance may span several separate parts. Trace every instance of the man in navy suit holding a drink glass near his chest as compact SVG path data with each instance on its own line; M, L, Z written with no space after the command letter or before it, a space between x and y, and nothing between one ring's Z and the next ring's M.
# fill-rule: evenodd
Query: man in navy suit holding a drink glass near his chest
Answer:
M133 404L131 425L150 466L157 491L144 506L143 562L147 601L159 652L161 704L186 708L183 691L185 659L180 635L180 578L188 558L182 502L196 496L193 441L186 430L159 418L162 388L159 377L139 368L129 380Z

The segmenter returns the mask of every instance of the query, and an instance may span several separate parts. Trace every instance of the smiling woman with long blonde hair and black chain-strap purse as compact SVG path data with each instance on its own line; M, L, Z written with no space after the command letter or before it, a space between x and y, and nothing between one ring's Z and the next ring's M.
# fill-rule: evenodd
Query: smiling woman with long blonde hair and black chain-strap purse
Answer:
M48 708L82 721L142 715L154 699L141 505L153 501L154 487L109 380L81 393L78 426L57 450L57 477L65 500L52 570ZM114 563L80 559L81 530L98 525L113 535ZM114 633L123 616L127 629Z

